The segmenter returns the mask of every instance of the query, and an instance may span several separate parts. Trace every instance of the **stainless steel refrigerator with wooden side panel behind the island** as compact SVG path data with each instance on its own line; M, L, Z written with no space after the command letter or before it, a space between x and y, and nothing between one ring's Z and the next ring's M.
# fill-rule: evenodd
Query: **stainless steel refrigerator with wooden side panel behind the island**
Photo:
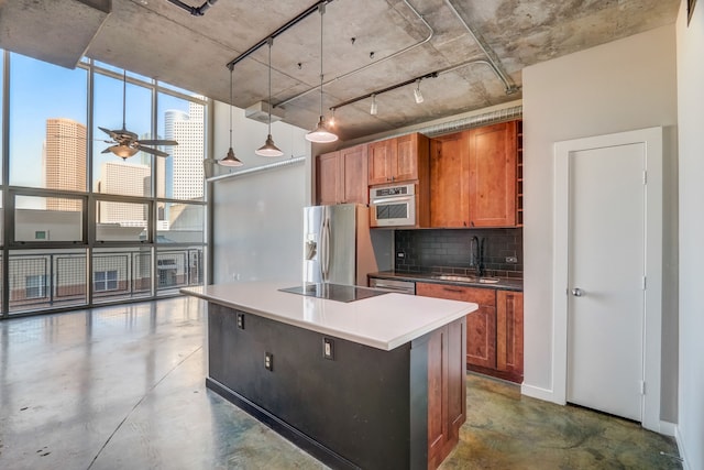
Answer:
M370 230L366 206L304 208L304 282L366 285L369 273L392 269L393 231Z

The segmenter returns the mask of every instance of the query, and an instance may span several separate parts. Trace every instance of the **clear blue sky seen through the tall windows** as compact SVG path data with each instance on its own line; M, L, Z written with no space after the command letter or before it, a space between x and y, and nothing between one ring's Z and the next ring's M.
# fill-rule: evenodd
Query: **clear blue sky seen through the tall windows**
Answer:
M113 67L111 67L113 68ZM114 70L121 72L113 68ZM0 61L0 77L2 62ZM19 54L11 54L10 66L10 184L14 186L42 186L42 145L46 136L46 119L69 118L87 124L88 70L68 69ZM128 73L128 75L131 75ZM1 78L0 78L1 79ZM122 128L122 80L95 75L94 103L94 184L102 162L121 159L101 154L108 147L109 135L98 130ZM1 90L2 88L0 88ZM160 94L160 134L164 131L164 111L188 111L188 101ZM138 135L151 131L151 92L147 88L128 83L127 129ZM124 162L129 164L129 161ZM136 163L136 162L135 162Z

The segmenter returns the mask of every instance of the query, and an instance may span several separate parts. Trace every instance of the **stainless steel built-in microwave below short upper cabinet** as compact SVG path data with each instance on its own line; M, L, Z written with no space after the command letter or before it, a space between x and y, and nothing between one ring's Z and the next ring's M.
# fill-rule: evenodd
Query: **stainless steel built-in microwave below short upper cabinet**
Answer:
M416 225L416 186L400 185L370 189L370 226Z

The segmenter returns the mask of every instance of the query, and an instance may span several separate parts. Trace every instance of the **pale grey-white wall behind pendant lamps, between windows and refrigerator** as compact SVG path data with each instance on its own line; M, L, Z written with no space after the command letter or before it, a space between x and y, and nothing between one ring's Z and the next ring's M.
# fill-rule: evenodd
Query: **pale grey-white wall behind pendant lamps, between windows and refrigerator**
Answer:
M244 166L213 166L216 176L246 172L292 157L305 163L230 176L209 183L212 218L212 283L301 277L302 207L310 204L310 145L306 130L283 122L272 136L284 152L271 159L254 154L264 144L266 124L233 108L232 146ZM228 105L215 103L213 155L222 159L229 143Z

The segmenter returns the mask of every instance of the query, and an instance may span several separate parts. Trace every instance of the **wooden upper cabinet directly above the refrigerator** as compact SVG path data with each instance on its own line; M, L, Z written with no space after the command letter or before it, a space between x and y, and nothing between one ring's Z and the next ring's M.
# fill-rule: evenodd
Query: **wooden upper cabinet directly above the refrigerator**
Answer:
M317 204L367 204L366 145L323 153L316 160Z

